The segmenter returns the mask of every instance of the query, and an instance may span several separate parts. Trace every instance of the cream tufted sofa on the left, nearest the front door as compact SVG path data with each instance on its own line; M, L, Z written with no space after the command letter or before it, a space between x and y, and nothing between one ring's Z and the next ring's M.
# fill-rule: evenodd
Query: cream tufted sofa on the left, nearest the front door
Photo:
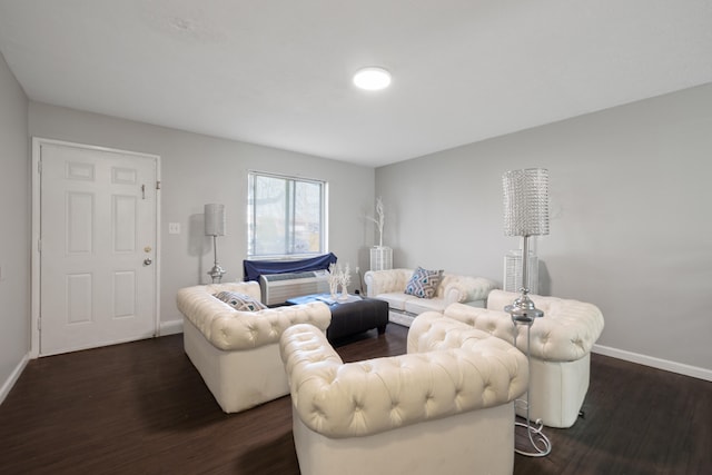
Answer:
M212 295L222 290L259 300L259 284L214 284L182 288L184 347L226 413L236 413L289 393L279 357L279 337L297 323L325 331L332 320L324 303L239 311Z

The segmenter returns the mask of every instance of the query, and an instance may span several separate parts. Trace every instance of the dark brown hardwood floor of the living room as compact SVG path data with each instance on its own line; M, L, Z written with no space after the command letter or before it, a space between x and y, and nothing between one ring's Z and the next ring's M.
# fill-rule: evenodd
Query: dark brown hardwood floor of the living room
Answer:
M337 350L347 362L403 354L406 330L388 325ZM712 383L592 355L584 412L572 428L546 428L551 455L517 455L514 473L712 473ZM0 474L299 468L289 397L224 414L174 335L30 362L0 405Z

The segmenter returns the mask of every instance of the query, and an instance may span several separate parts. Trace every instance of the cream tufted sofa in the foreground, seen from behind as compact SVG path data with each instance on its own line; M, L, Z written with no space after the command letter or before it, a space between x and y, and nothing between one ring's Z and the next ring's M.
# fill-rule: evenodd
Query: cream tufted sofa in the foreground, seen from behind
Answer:
M511 474L526 357L439 314L416 317L407 354L344 364L322 331L281 336L303 474Z

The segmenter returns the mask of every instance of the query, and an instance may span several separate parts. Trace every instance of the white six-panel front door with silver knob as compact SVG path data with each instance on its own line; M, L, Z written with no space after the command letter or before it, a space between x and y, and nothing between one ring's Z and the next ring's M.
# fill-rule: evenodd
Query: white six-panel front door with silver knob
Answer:
M40 355L156 334L157 166L40 144Z

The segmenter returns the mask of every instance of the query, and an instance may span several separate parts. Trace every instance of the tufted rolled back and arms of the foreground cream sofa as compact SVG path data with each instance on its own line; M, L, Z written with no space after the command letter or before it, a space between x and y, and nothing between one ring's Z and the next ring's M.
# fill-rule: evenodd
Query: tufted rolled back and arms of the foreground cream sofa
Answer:
M524 393L528 367L521 352L435 315L439 321L424 323L423 334L457 334L438 348L348 364L317 328L288 328L280 350L301 422L327 437L357 437L507 404Z

